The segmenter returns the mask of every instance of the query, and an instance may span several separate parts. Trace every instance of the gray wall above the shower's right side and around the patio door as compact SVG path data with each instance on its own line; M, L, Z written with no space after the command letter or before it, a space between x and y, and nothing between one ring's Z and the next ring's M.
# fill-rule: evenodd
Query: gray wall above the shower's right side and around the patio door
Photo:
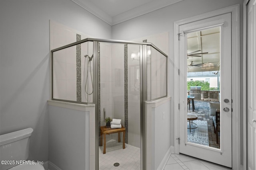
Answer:
M242 36L243 0L183 0L171 6L112 26L112 39L131 40L162 32L169 32L168 95L172 97L171 144L174 146L174 22L214 10L240 4L240 36ZM240 39L242 54L242 38ZM157 44L154 44L158 46Z

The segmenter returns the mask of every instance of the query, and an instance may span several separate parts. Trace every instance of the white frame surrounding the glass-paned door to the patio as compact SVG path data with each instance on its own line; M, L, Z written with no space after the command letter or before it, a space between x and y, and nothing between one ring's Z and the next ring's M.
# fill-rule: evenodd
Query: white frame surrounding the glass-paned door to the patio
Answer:
M179 82L179 27L186 23L191 23L222 14L231 13L232 29L232 168L240 169L240 21L239 4L208 12L199 16L194 16L184 20L174 22L174 82ZM182 36L182 35L181 35ZM174 83L174 96L179 98L179 84ZM174 100L174 153L180 153L179 147L179 99Z

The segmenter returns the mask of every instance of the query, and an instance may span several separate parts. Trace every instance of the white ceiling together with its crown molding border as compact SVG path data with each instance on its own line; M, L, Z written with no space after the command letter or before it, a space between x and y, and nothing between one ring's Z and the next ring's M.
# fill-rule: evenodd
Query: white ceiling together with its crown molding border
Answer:
M71 0L109 25L164 8L182 0Z

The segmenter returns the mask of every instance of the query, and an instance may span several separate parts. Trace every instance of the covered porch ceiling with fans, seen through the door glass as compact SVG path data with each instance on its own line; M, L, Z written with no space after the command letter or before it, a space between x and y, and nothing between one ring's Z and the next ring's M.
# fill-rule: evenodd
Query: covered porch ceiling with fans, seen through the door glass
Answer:
M187 40L188 72L218 71L220 27L188 33Z

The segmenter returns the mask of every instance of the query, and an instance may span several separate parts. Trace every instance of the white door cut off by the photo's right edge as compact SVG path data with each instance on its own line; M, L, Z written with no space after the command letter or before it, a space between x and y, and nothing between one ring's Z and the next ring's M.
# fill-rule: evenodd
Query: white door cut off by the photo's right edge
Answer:
M248 169L256 169L256 0L247 5Z

